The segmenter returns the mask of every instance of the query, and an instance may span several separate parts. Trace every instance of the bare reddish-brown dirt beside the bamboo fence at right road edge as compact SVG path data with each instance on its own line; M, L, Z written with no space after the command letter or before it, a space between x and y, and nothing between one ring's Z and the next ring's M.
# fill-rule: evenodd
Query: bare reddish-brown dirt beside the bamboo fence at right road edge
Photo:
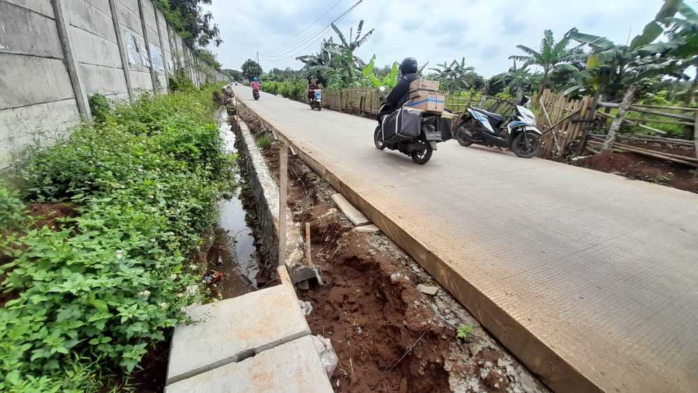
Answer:
M630 152L605 152L581 159L574 165L698 193L698 171L695 168L661 158Z

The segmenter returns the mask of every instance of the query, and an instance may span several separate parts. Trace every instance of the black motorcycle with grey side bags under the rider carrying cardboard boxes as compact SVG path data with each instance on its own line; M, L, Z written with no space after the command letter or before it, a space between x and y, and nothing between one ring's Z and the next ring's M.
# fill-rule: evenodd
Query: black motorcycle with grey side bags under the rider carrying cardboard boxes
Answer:
M381 87L380 91L385 91L385 87ZM380 112L383 112L386 105L381 106ZM450 113L447 112L442 114L402 107L392 114L380 117L378 126L373 131L373 144L379 150L387 147L400 151L410 156L414 163L424 165L437 149L436 144L451 138L449 117ZM406 124L412 124L413 127L405 127ZM412 132L404 132L406 129L411 129Z

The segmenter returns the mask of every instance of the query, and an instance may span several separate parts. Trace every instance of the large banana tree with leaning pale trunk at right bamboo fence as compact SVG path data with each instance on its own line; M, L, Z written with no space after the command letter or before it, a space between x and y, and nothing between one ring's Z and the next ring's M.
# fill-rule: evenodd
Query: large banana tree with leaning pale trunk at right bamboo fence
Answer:
M587 70L580 73L584 83L591 84L597 95L609 84L628 86L604 140L602 151L613 149L625 112L637 101L637 93L641 90L645 78L666 75L675 68L675 61L667 57L671 50L660 43L652 43L664 31L660 21L674 16L681 3L680 0L664 0L664 5L655 19L646 24L642 34L635 36L630 45L616 45L604 37L581 34L577 29L570 31L572 39L591 47Z

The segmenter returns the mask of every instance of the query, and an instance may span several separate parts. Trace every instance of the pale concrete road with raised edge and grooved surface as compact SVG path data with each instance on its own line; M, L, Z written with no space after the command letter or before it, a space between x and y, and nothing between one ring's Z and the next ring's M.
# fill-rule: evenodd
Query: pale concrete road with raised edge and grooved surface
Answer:
M549 387L698 390L698 195L455 140L420 166L375 121L237 95Z

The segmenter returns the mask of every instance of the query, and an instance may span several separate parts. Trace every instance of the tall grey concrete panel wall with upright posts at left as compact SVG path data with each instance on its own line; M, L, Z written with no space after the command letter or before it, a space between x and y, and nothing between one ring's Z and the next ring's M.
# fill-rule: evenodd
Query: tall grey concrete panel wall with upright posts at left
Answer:
M228 80L152 0L0 0L0 172L90 119L92 94L165 93L178 65L197 86Z

